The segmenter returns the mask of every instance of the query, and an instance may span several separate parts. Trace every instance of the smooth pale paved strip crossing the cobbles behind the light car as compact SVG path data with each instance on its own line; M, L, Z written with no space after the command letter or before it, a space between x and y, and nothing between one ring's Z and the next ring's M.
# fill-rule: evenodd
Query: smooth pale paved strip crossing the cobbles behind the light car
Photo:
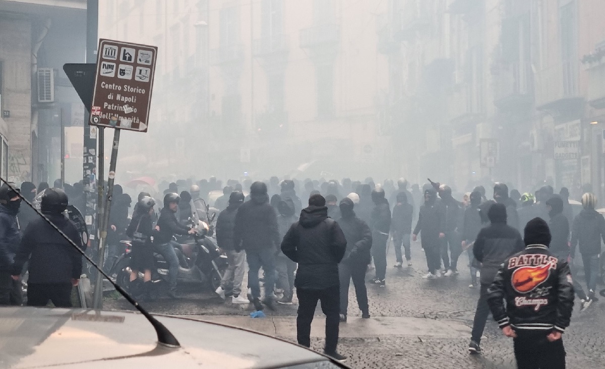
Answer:
M296 318L294 316L267 316L250 318L234 315L180 315L183 318L208 322L217 322L227 326L241 327L270 336L296 338ZM311 336L323 338L325 319L316 316L311 327ZM468 337L471 329L464 324L445 319L372 317L362 319L350 317L341 323L341 338L373 338L385 336L424 336L424 337Z

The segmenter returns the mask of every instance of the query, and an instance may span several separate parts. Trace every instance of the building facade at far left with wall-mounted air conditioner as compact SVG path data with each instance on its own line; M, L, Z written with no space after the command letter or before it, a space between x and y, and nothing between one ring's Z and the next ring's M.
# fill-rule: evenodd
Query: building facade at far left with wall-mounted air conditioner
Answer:
M64 63L85 59L86 1L0 2L0 175L11 181L60 177L60 126L82 126L83 106ZM74 172L82 173L82 144Z

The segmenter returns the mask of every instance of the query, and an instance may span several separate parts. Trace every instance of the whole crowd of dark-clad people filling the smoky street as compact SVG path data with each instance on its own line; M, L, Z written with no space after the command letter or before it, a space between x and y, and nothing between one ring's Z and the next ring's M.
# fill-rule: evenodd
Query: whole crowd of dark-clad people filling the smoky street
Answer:
M315 307L321 301L326 315L325 353L336 359L345 359L336 347L339 322L347 321L350 282L362 318L370 318L366 284L387 285L387 246L391 243L394 268L404 268L412 266L411 240L420 239L427 265L427 274L422 276L425 280L458 275L459 257L466 251L469 287L480 287L470 353L481 352L480 339L490 309L505 335L515 338L515 354L529 357L531 353L517 352L516 342L532 341L537 332L548 331L548 344L536 350L552 350L552 342L560 340L560 333L569 324L574 292L581 300L581 310L597 301L605 218L595 210L594 194L584 194L583 208L574 214L566 188L559 194L550 186L534 194L520 194L499 182L488 199L482 186L469 193L454 193L448 185L435 182L410 188L400 179L396 184L390 180L374 184L371 178L364 182L301 182L276 177L257 182L249 178L229 180L224 187L215 178L197 183L164 182L153 194L139 194L130 220L130 196L117 186L108 231L132 240L129 287L133 294L151 298L155 250L169 265L168 294L176 298L178 259L173 236L193 234L195 226L190 222L195 225L200 219L210 219L208 213L218 214L216 239L227 255L229 268L215 292L223 299L231 298L234 304L252 303L255 310L293 304L296 295L298 342L307 347ZM38 191L43 187L41 184ZM70 203L82 206L74 187L68 190L64 186L65 192L51 188L49 194L71 192ZM27 223L36 222L36 214L27 207L19 211L13 201L20 196L33 198L38 191L28 182L21 185L19 196L10 188L6 193L0 191L2 304L19 303L13 299L15 277L20 274L16 272L32 255L31 274L33 245L43 242L25 235ZM212 201L216 191L222 195ZM163 205L159 217L155 216L156 204ZM19 225L26 229L23 236ZM586 275L586 292L578 279L571 277L579 267L577 251ZM76 269L81 269L76 262L68 264L71 271L59 278L64 289L68 276L69 283L77 283ZM241 287L246 270L247 296ZM142 283L137 278L139 272L144 275ZM366 281L368 272L373 272L373 278ZM7 276L10 280L4 278ZM505 283L507 280L510 283ZM38 301L35 296L33 301ZM552 365L549 367L558 364Z

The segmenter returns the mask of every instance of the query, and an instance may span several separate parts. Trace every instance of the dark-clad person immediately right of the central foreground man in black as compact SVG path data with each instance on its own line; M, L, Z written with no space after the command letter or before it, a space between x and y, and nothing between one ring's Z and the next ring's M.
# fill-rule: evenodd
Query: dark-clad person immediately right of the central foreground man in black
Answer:
M355 297L359 310L361 310L361 317L370 318L368 293L365 289L365 271L370 263L372 233L370 227L355 216L354 206L353 201L348 197L340 202L341 218L338 219L338 224L341 226L342 233L344 233L347 240L347 249L338 265L341 322L347 321L348 286L351 280L353 280L353 286L355 286Z

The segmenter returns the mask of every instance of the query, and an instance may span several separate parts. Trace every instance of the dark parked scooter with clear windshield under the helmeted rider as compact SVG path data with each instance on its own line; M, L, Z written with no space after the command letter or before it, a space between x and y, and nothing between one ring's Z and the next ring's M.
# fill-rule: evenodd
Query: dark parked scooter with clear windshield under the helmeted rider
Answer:
M198 233L194 235L193 240L189 239L188 242L179 243L178 246L175 243L174 251L179 261L177 282L208 284L212 290L216 290L227 270L227 256L218 248L216 241L208 236L210 230L208 223L200 221L197 230ZM123 243L126 245L126 250L111 269L110 277L114 278L120 286L128 286L131 272L129 254L132 244L129 241ZM159 252L154 251L154 259L155 266L151 271L151 281L168 283L168 263ZM139 278L141 280L143 278L142 271L139 271Z

